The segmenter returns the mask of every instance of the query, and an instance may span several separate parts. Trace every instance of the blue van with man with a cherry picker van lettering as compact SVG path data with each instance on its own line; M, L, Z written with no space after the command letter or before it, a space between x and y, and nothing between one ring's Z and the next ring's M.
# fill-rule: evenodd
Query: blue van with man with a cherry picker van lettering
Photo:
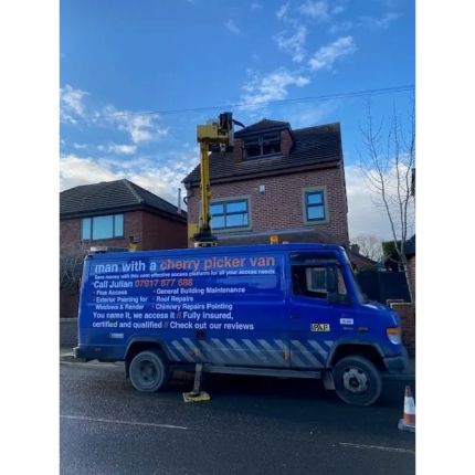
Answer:
M398 315L368 302L342 247L268 244L91 253L77 358L125 361L139 391L173 370L323 378L372 404L404 370Z

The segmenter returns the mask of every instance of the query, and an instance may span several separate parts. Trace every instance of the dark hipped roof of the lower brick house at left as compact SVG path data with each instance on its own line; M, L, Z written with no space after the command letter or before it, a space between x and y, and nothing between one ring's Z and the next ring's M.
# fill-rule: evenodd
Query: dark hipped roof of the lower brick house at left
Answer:
M186 212L178 214L177 207L126 179L83 184L60 193L61 218L136 210L186 220Z

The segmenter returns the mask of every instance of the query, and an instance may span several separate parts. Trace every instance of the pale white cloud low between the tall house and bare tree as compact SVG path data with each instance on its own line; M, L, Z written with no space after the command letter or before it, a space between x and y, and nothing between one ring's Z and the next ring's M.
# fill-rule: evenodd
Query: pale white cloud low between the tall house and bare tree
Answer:
M390 187L394 188L394 173L390 175ZM358 166L345 167L345 177L348 198L348 225L350 241L360 234L373 234L384 241L392 239L391 226L381 204L378 193L372 191L365 180L365 176ZM411 215L414 209L411 207ZM408 239L414 232L413 219Z

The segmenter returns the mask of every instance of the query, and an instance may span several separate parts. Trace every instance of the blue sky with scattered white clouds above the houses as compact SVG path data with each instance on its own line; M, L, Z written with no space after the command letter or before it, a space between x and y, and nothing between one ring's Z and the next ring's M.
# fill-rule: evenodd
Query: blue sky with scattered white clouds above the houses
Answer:
M341 125L350 239L390 239L358 162L368 105L407 126L410 0L60 1L60 187L128 178L177 203L198 124Z

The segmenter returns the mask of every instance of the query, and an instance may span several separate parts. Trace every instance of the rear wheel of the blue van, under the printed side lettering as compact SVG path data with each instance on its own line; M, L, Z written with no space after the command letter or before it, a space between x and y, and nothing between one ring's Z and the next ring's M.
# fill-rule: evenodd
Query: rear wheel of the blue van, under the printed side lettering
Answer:
M158 391L167 382L168 374L167 361L158 351L141 351L130 361L130 382L137 391Z

